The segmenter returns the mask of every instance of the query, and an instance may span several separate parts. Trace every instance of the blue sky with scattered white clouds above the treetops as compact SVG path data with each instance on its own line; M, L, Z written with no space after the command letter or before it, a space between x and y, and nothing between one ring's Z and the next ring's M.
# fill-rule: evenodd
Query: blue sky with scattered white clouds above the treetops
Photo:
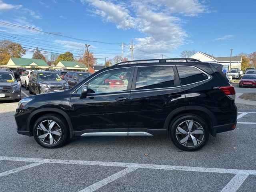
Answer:
M22 44L25 58L35 47L78 56L90 44L103 63L121 54L123 42L130 59L131 40L134 59L179 57L192 49L229 56L230 48L233 55L256 51L255 7L253 0L0 0L0 40Z

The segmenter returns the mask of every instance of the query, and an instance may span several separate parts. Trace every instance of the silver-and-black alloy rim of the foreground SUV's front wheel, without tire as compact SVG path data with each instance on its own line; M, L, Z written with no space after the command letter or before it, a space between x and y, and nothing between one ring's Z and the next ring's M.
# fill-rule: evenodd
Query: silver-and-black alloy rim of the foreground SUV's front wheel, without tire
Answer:
M56 144L62 135L60 126L53 120L42 121L36 130L40 141L47 145Z

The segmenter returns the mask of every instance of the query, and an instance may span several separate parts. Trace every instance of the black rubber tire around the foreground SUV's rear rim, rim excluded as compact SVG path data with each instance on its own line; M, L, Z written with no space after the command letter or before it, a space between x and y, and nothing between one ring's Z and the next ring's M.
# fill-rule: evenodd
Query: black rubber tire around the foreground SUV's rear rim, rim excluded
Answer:
M203 130L203 132L204 132L203 136L201 134L192 134L192 130L194 130L194 127L196 126L194 124L193 124L193 128L189 132L189 135L188 134L177 134L177 136L176 136L176 129L178 129L178 126L181 126L180 124L182 124L182 122L185 122L185 121L194 121L194 122L200 124L202 126L202 129L200 129L200 130ZM170 124L170 132L169 133L170 133L170 138L172 139L172 142L174 143L174 145L184 151L199 150L206 144L206 142L209 139L209 130L208 130L208 126L207 126L206 122L202 118L195 116L195 115L191 115L191 114L185 114L183 116L176 117ZM188 142L190 142L190 143L193 143L192 136L202 137L202 140L201 140L201 142L196 142L197 143L196 146L184 146L179 142L179 140L177 138L177 137L182 137L182 136L188 137ZM185 144L185 145L187 145L187 144ZM194 145L194 144L192 144L192 145Z

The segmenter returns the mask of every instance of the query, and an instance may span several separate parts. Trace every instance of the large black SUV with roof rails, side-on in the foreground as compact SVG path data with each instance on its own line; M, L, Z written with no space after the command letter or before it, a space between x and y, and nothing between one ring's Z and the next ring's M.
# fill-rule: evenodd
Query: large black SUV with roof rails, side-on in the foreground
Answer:
M70 90L26 97L17 132L46 148L74 136L167 135L182 150L198 150L209 134L235 129L235 90L221 64L184 61L121 62Z

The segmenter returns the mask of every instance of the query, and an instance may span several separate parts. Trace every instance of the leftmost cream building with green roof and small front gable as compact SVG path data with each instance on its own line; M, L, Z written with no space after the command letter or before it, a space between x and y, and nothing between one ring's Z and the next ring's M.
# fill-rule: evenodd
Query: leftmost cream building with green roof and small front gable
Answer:
M7 66L9 68L49 68L48 64L42 59L10 58Z

